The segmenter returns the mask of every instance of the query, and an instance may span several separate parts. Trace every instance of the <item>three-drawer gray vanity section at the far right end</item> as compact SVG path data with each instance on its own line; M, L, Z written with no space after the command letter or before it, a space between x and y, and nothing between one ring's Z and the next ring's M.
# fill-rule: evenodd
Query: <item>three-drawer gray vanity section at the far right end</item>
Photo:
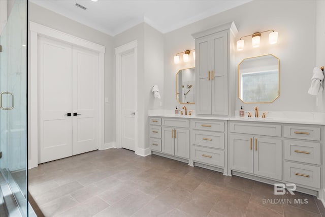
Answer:
M284 126L284 180L320 188L321 127Z

